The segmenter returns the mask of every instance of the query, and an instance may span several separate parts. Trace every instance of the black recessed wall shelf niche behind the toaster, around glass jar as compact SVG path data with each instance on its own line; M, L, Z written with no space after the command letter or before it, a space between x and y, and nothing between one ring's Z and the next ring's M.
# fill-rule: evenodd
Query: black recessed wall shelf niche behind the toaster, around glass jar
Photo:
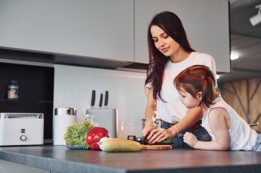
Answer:
M15 56L21 55L10 55ZM43 139L44 142L52 140L54 67L0 62L0 79L0 112L44 114ZM12 80L19 84L19 98L16 100L7 98L7 86Z

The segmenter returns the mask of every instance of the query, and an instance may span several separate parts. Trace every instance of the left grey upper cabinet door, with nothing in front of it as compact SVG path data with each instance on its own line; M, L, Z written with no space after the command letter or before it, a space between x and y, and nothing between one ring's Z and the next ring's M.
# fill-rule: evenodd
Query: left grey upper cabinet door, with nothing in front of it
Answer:
M0 47L134 61L133 0L0 4Z

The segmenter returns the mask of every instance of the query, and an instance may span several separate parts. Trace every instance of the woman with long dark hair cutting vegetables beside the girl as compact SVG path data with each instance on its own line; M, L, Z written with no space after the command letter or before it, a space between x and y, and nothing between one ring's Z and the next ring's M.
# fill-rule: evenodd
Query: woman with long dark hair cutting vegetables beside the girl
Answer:
M191 48L181 20L172 12L161 12L152 18L148 27L148 49L150 59L145 82L148 103L143 135L148 135L150 144L173 137L174 148L190 147L178 135L186 131L202 141L210 141L210 135L199 122L202 110L196 107L187 112L179 102L179 93L174 88L173 80L179 72L196 64L208 66L216 74L214 58ZM153 125L156 110L163 120L163 128L155 129Z

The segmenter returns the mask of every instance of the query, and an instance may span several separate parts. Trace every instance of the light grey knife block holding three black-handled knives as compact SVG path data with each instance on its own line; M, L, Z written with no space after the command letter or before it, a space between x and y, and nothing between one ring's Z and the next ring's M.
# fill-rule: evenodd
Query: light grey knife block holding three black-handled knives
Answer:
M98 123L99 127L104 127L109 131L110 137L117 137L117 109L108 109L109 92L105 92L104 108L102 108L103 94L100 94L99 109L94 108L95 90L91 96L91 109L86 110L86 114L92 114L93 120Z

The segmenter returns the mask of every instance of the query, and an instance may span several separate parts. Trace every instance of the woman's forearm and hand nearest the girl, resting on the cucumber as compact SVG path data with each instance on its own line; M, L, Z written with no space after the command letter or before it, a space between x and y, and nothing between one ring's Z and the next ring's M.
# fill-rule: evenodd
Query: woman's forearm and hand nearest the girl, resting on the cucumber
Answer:
M194 107L193 109L190 109L190 112L184 118L182 118L180 122L170 127L170 129L158 128L152 130L150 132L150 135L148 135L148 142L150 144L155 144L156 142L161 142L168 137L174 137L178 135L178 133L181 133L181 131L188 129L198 120L200 120L202 114L203 112L200 107Z

